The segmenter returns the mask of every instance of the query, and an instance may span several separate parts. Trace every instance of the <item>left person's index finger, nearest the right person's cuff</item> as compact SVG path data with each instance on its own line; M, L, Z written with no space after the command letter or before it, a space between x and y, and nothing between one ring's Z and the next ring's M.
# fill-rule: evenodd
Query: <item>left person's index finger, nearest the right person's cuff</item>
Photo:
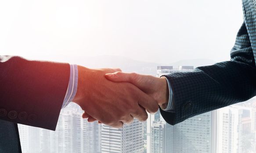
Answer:
M155 101L154 98L150 97L148 94L144 92L136 92L138 98L138 104L145 108L149 113L154 114L158 111L159 105L158 102Z

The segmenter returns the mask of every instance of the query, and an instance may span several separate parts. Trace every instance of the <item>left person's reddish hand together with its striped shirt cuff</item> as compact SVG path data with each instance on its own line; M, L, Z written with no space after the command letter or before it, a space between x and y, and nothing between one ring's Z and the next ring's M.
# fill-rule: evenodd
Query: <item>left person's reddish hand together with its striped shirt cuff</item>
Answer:
M73 101L86 112L83 118L88 118L89 122L98 120L115 128L133 122L133 118L145 121L148 118L146 110L155 113L158 102L132 83L106 79L106 73L116 71L121 70L70 65L69 87L62 108Z

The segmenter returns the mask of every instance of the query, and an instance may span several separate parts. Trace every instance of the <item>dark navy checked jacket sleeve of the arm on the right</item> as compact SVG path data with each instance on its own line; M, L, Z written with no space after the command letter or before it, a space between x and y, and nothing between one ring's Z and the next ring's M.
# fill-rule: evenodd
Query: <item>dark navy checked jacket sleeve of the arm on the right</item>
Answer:
M175 113L160 111L171 125L256 96L256 66L245 24L238 31L231 61L165 76L173 89Z

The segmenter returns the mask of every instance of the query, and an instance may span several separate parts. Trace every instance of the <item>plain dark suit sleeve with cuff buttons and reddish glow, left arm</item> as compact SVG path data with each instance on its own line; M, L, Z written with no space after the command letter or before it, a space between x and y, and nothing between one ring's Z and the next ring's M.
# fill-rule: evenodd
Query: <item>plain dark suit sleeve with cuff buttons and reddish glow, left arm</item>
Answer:
M0 119L55 130L69 75L68 63L0 56Z

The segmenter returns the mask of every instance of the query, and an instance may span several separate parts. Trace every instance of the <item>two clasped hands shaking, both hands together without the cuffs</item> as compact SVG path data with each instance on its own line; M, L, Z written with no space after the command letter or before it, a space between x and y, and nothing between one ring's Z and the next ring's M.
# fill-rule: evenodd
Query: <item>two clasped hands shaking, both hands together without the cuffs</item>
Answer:
M83 109L83 118L88 118L88 122L98 120L121 128L134 118L145 121L147 111L155 113L168 100L165 78L78 66L78 87L73 102Z

